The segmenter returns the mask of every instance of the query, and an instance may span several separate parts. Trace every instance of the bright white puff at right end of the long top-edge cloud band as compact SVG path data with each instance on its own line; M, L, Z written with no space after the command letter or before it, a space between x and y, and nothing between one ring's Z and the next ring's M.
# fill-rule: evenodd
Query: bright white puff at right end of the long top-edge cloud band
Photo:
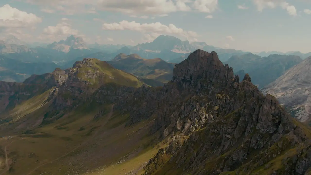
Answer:
M218 0L196 0L193 8L199 12L212 13L218 8Z

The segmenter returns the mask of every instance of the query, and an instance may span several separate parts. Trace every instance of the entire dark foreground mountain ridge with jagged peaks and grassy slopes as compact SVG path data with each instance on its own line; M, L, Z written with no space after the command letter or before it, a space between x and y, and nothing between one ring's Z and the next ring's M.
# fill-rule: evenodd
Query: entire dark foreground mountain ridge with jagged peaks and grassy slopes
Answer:
M176 65L135 54L111 63L142 76L174 68L160 87L95 58L0 82L0 173L311 173L309 126L216 52L195 50Z

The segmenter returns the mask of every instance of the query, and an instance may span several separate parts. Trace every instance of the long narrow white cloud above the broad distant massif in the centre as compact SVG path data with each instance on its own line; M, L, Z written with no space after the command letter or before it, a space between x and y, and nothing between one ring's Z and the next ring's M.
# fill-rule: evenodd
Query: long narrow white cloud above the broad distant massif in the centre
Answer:
M169 24L168 26L161 24L160 22L156 23L144 23L140 24L135 21L121 21L119 23L104 23L102 25L104 30L115 30L115 31L138 31L142 33L153 33L155 34L175 34L182 37L186 37L189 40L195 40L199 35L194 31L184 31L181 28L177 28L174 24Z

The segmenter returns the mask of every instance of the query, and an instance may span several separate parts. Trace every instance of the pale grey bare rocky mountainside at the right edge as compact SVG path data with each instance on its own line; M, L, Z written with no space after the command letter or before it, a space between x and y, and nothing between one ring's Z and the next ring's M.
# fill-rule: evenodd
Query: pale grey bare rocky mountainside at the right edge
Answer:
M278 101L291 108L300 121L309 120L311 108L311 57L292 67L280 78L263 87L261 91L270 93Z

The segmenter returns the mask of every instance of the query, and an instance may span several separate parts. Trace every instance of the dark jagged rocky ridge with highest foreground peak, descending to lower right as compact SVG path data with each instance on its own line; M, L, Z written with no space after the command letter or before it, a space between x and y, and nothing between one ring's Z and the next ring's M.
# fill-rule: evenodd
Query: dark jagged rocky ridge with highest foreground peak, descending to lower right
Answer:
M158 175L303 175L311 167L309 129L276 98L262 95L248 74L239 82L216 52L194 51L175 66L171 82L140 87L115 109L130 113L128 124L154 116L151 133L160 131L163 138L190 134L177 152L160 150L145 175L155 165Z

